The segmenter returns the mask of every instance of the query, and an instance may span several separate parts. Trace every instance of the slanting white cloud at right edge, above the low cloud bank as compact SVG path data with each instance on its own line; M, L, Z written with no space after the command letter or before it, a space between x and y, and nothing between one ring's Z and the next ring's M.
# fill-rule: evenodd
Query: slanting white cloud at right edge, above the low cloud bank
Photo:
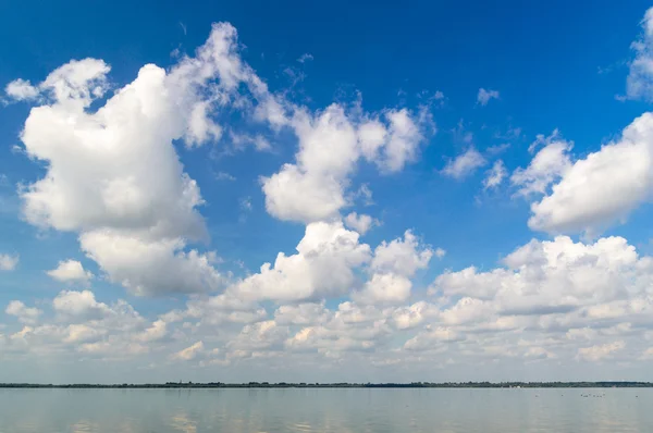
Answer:
M555 141L542 149L526 171L513 174L520 191L551 193L531 205L529 226L547 233L601 233L651 199L653 191L653 114L644 113L621 137L575 162L570 145ZM546 158L542 158L543 152ZM533 170L538 165L538 170ZM555 182L556 180L558 180Z

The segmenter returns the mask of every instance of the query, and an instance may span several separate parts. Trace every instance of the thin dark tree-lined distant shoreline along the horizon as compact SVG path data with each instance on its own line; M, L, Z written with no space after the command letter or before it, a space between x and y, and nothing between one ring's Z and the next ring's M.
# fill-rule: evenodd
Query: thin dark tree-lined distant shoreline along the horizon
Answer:
M189 389L189 388L649 388L653 382L411 382L411 383L194 383L146 384L38 384L0 383L0 388L63 389Z

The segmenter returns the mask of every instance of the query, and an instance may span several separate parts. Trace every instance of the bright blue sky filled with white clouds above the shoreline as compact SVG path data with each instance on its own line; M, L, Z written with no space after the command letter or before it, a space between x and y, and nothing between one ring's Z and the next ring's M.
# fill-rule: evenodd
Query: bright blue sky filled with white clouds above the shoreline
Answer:
M652 381L642 1L0 5L0 382Z

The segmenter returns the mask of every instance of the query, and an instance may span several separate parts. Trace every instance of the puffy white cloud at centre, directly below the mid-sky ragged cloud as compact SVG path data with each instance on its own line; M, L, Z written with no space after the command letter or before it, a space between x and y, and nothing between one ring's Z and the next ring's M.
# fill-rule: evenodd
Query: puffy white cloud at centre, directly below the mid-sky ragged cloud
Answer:
M297 253L280 252L274 265L264 263L260 273L235 287L248 299L301 300L337 296L355 283L354 269L370 260L370 247L358 243L358 233L342 222L307 225Z

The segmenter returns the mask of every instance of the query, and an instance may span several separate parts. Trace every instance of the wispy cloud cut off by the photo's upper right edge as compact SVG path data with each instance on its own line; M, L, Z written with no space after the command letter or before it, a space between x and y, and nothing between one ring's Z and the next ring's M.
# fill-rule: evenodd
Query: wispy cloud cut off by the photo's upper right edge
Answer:
M653 100L653 8L646 10L641 22L642 35L631 44L634 60L626 81L626 94L630 99Z

